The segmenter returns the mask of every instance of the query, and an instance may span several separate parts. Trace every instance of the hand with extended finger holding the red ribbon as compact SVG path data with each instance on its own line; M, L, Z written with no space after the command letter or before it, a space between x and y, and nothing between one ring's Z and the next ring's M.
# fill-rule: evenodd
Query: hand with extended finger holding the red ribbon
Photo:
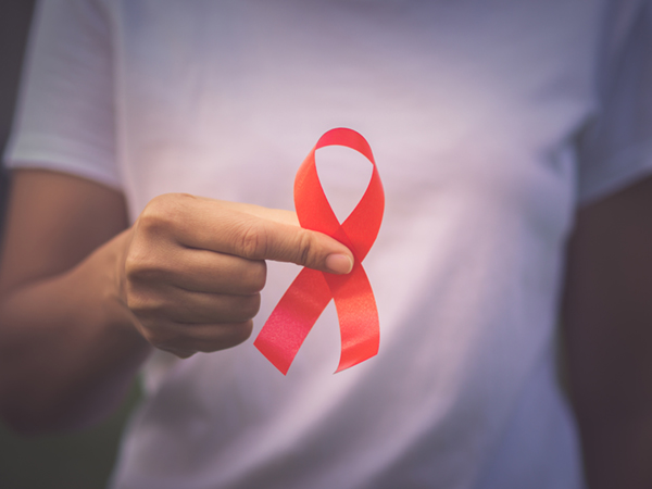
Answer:
M343 244L299 227L293 212L189 195L153 199L131 234L123 301L151 344L180 358L249 338L265 260L338 274L353 265Z

